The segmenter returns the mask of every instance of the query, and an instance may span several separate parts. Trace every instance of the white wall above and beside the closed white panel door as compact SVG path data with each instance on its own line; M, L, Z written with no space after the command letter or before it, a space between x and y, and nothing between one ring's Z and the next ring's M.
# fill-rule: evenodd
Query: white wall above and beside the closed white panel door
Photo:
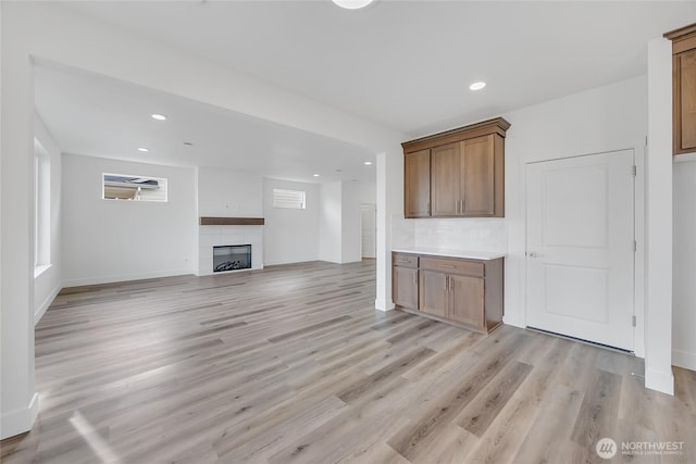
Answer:
M646 77L641 76L505 114L506 138L505 322L525 326L524 166L533 161L633 149L642 167L646 117ZM643 170L639 170L643 174ZM636 180L636 184L641 183ZM639 246L643 241L639 240ZM643 324L642 306L637 311ZM642 335L642 333L641 333ZM642 338L636 340L642 350Z

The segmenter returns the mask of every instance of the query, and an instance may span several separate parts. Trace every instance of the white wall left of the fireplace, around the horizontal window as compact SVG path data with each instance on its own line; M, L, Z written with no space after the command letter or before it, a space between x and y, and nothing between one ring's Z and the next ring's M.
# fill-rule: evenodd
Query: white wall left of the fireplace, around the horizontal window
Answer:
M102 173L165 177L166 203L102 200ZM63 154L65 287L189 274L195 170Z

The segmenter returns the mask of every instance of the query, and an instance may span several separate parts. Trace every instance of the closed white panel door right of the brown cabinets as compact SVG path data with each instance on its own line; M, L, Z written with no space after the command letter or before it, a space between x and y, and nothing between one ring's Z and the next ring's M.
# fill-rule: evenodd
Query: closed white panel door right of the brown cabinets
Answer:
M633 350L632 150L526 170L527 326Z

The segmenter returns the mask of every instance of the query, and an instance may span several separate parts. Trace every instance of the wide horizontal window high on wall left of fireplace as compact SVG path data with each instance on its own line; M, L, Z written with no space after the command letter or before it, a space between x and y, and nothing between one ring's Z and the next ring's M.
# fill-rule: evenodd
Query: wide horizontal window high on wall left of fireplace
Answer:
M104 200L166 202L166 179L160 177L102 174Z

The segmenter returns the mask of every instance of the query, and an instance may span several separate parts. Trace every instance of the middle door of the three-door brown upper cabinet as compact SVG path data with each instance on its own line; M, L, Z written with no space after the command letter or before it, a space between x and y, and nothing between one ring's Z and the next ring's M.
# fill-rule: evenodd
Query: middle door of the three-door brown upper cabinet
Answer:
M459 214L459 143L431 150L431 213L433 216Z

